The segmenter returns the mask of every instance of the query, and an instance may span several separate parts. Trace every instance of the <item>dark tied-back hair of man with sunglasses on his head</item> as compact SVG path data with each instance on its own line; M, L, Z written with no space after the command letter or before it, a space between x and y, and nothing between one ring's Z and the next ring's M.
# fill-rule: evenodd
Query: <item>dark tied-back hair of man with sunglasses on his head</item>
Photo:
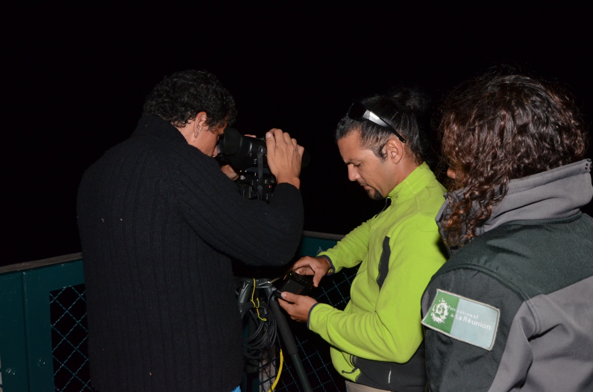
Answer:
M428 141L426 135L420 130L418 117L426 110L428 101L428 96L419 90L400 87L388 95L375 95L362 99L361 103L387 121L406 139L405 148L411 153L416 163L420 164L424 161ZM361 131L361 147L372 150L375 156L381 160L387 159L383 147L395 137L390 130L371 121L361 123L351 120L346 114L337 124L336 143L355 130Z

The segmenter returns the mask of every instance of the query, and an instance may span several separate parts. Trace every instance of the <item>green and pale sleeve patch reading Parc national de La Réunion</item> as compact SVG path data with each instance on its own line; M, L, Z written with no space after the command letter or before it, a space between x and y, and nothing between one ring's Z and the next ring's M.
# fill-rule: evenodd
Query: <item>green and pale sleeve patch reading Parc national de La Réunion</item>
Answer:
M422 324L490 351L496 339L499 317L498 308L437 289Z

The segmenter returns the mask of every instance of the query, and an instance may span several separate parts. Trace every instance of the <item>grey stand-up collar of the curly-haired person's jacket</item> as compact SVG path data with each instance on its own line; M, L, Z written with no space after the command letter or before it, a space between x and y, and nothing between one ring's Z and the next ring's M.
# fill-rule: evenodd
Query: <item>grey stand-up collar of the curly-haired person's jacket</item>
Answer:
M492 208L490 218L477 228L477 234L486 233L503 223L513 220L562 219L573 216L579 208L593 197L591 185L591 159L560 166L546 172L509 181L505 197ZM455 191L460 198L463 189ZM442 220L451 213L451 205L445 194L445 204L436 215L441 236Z

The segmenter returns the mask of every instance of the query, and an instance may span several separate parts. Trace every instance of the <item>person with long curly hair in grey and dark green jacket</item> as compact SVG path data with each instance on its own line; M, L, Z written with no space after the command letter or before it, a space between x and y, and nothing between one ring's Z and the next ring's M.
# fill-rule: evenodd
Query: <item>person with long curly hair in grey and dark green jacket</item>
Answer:
M451 258L422 297L431 391L593 391L593 196L572 99L489 75L448 98Z

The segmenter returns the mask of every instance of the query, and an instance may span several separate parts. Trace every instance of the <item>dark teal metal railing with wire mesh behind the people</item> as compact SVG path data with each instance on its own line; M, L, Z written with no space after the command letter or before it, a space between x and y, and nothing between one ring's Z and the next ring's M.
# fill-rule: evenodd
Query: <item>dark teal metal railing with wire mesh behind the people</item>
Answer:
M298 254L315 256L342 237L303 232ZM314 297L343 309L355 274L349 269L324 278ZM82 253L0 267L0 392L90 391L86 318ZM313 390L344 390L329 345L305 324L289 323ZM246 375L244 392L270 385L277 364L278 358L262 364L249 382ZM301 390L289 361L275 390Z

